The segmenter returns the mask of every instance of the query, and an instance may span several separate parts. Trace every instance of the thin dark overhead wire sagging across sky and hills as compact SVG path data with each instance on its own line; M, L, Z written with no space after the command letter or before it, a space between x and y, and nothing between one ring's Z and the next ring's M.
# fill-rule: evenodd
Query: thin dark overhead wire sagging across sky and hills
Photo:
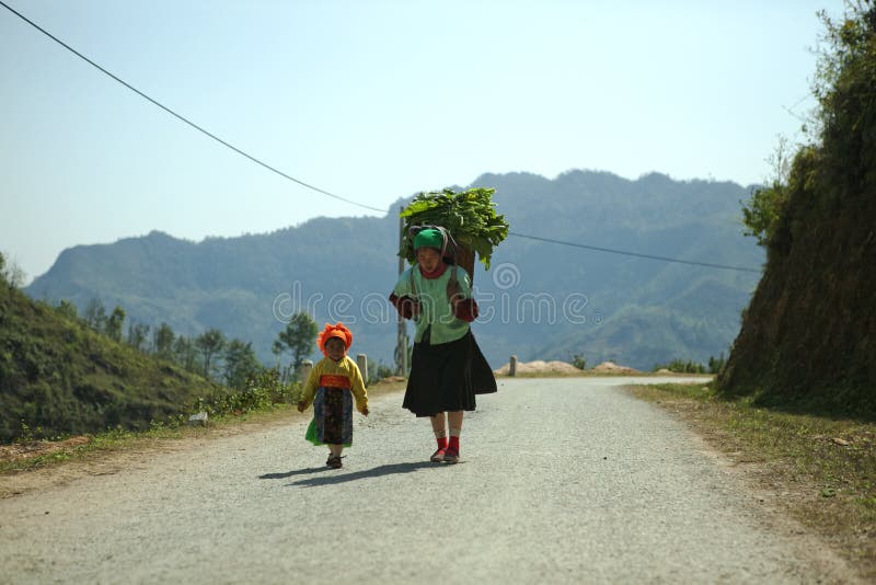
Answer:
M132 91L134 93L139 95L140 97L151 102L152 104L154 104L158 107L160 107L161 110L165 111L166 113L169 113L173 117L177 118L178 121L187 124L188 126L192 126L193 128L195 128L199 133L208 136L209 138L212 138L217 142L219 142L222 146L233 150L238 154L241 154L242 157L245 157L245 158L250 159L252 162L254 162L254 163L256 163L256 164L258 164L261 167L264 167L268 171L283 176L284 179L287 179L289 181L298 183L299 185L301 185L303 187L310 188L310 190L315 191L318 193L322 193L323 195L327 195L328 197L342 200L344 203L348 203L350 205L356 205L356 206L362 207L365 209L371 209L373 211L387 211L387 209L381 209L379 207L372 207L370 205L366 205L366 204L362 204L362 203L359 203L359 202L355 202L353 199L348 199L346 197L342 197L339 195L335 195L334 193L330 193L330 192L327 192L325 190L322 190L322 188L320 188L318 186L314 186L314 185L311 185L309 183L306 183L306 182L303 182L303 181L301 181L299 179L296 179L295 176L291 176L289 174L284 173L283 171L272 167L270 164L267 164L266 162L261 161L260 159L253 157L252 154L249 154L249 153L244 152L243 150L239 149L234 145L232 145L230 142L227 142L226 140L222 140L221 138L219 138L215 134L201 128L200 126L198 126L194 122L189 121L185 116L182 116L182 115L177 114L176 112L174 112L170 107L165 106L164 104L158 102L157 100L153 100L152 97L150 97L146 93L141 92L140 90L138 90L137 88L135 88L134 85L131 85L130 83L125 81L124 79L119 78L118 76L115 76L114 73L107 71L106 69L104 69L103 67L97 65L96 62L92 61L91 59L89 59L88 57L85 57L84 55L82 55L81 53L76 50L73 47L71 47L67 43L61 41L60 38L56 37L55 35L53 35L51 33L49 33L48 31L46 31L45 28L43 28L42 26L39 26L35 22L33 22L32 20L27 19L22 13L18 12L15 9L13 9L12 7L10 7L9 4L3 2L3 0L0 0L0 5L2 5L4 9L7 9L10 12L12 12L13 14L15 14L18 18L20 18L21 20L23 20L24 22L26 22L27 24L30 24L31 26L33 26L34 28L36 28L37 31L39 31L41 33L43 33L44 35L49 37L50 39L53 39L55 43L57 43L60 46L62 46L64 48L66 48L67 50L69 50L70 53L72 53L73 55L79 57L80 59L82 59L83 61L85 61L89 65L91 65L92 67L94 67L95 69L101 71L102 73L108 76L113 80L115 80L118 83L125 85L127 89L129 89L130 91ZM565 242L565 241L562 241L562 240L553 240L553 239L550 239L550 238L540 238L538 236L527 236L527 234L523 234L523 233L508 232L508 234L509 236L515 236L517 238L526 238L526 239L529 239L529 240L538 240L538 241L541 241L541 242L549 242L549 243L554 243L554 244L568 245L568 246L572 246L572 248L583 248L585 250L593 250L593 251L597 251L597 252L607 252L607 253L610 253L610 254L621 254L621 255L625 255L625 256L644 257L644 259L649 259L649 260L659 260L659 261L664 261L664 262L675 262L675 263L679 263L679 264L690 264L690 265L694 265L694 266L707 266L707 267L711 267L711 268L722 268L722 269L727 269L727 271L740 271L740 272L753 272L753 273L759 273L760 272L760 271L754 269L754 268L746 268L746 267L740 267L740 266L727 266L727 265L724 265L724 264L712 264L712 263L708 263L708 262L694 262L694 261L689 261L689 260L679 260L679 259L672 259L672 257L666 257L666 256L655 256L655 255L650 255L650 254L639 254L637 252L626 252L626 251L623 251L623 250L613 250L611 248L600 248L600 246L597 246L597 245L587 245L587 244L579 244L579 243L574 243L574 242Z

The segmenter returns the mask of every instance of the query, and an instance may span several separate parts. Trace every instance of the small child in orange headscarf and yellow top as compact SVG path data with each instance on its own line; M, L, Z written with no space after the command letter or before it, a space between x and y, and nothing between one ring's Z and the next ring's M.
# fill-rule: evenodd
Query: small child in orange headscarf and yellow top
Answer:
M347 356L353 345L350 330L344 323L325 323L316 341L325 357L313 366L298 412L313 402L313 421L306 438L313 445L328 445L325 464L338 469L341 452L353 444L353 400L356 410L368 416L368 392L359 366Z

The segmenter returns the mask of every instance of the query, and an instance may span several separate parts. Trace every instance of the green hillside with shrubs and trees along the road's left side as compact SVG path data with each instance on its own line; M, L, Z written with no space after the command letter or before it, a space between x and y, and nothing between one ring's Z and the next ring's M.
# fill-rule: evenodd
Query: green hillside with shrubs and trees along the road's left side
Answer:
M18 274L0 253L0 445L147 432L199 412L239 415L298 401L299 368L316 339L307 313L279 333L267 367L252 343L217 329L185 336L166 323L128 321L124 308L107 311L97 299L81 314L66 300L35 301ZM391 370L369 364L368 372L373 382Z

